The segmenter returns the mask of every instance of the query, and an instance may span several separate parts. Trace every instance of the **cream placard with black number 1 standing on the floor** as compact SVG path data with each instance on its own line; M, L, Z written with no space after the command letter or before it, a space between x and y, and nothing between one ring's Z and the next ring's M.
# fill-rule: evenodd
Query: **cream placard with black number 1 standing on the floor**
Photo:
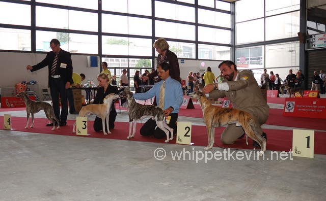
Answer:
M314 130L293 129L292 155L313 158L314 138Z

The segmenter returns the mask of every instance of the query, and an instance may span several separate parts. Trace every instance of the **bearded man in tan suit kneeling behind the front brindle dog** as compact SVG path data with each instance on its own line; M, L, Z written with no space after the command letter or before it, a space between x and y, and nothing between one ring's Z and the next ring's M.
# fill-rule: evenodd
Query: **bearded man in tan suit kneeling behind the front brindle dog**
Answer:
M243 110L251 114L255 120L257 133L267 140L266 133L261 125L268 119L269 106L267 105L257 81L251 71L237 71L233 61L223 61L219 69L225 78L222 83L209 84L203 88L203 92L209 98L227 97L233 108ZM229 124L222 132L221 142L233 144L238 138L242 138L244 130L241 126ZM253 146L259 146L254 141Z

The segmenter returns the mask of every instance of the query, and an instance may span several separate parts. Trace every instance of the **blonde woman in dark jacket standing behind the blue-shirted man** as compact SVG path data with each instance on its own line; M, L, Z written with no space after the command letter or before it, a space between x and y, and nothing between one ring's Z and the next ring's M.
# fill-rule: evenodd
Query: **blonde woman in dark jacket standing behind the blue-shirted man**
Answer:
M180 67L177 55L169 50L170 46L168 42L164 38L157 39L153 47L156 49L158 56L157 56L157 66L162 62L167 62L170 65L170 76L171 78L177 80L181 84L180 79ZM158 77L157 69L149 74L148 76L143 76L143 80L154 79Z

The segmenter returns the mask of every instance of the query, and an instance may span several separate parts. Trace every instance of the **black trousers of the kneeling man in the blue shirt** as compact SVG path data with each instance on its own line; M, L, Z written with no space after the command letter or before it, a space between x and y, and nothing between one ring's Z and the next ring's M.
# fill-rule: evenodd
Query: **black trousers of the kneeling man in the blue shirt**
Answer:
M171 128L173 128L173 133L177 133L177 125L175 122L178 120L178 114L177 113L171 113L171 119L170 123L168 124ZM156 122L155 119L153 120L152 118L148 119L144 125L140 129L140 133L142 136L151 136L154 135L155 138L161 139L161 138L166 138L167 135L166 133L161 130L160 128L156 128ZM170 133L171 135L171 133Z

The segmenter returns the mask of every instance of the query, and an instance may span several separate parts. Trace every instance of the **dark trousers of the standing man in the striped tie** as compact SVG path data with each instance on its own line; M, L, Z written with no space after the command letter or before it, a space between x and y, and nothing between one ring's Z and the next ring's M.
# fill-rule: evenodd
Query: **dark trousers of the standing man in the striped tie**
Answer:
M55 115L60 122L65 123L68 116L68 104L67 104L67 91L66 83L61 78L50 77L50 92L52 97L52 106L55 111ZM59 105L59 95L61 99L61 114Z

